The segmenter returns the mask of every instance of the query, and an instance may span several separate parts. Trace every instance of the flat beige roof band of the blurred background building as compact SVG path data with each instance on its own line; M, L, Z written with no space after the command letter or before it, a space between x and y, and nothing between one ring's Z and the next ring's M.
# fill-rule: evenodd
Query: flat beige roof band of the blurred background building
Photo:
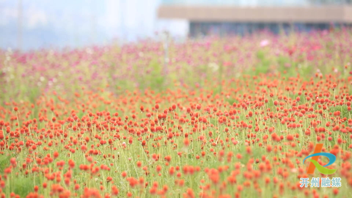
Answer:
M352 6L241 7L161 5L158 18L194 22L342 22L352 23Z

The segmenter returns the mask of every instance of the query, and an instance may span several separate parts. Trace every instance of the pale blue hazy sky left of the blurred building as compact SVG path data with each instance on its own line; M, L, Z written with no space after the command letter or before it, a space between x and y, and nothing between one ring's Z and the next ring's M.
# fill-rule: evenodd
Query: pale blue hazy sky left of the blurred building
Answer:
M134 41L169 30L185 36L183 20L158 20L161 0L22 0L22 48ZM0 47L16 48L19 0L0 0Z

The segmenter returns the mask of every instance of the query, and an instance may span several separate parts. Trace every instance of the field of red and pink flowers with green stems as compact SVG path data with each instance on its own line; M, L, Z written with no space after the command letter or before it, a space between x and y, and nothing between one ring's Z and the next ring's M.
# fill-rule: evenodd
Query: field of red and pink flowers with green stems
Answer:
M2 50L0 195L352 197L351 36Z

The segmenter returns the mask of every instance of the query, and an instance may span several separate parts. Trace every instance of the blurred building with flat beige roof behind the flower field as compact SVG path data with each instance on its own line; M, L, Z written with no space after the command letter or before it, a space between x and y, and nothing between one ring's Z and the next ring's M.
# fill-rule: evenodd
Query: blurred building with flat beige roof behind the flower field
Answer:
M161 19L184 19L189 34L273 33L351 26L352 0L162 0Z

